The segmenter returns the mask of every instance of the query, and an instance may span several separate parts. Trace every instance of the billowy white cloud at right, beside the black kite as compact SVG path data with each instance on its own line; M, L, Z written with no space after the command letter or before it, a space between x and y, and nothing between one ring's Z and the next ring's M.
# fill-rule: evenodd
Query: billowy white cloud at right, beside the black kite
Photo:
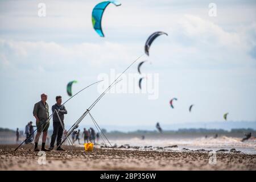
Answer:
M230 32L209 20L186 14L168 31L168 43L162 52L168 51L168 58L174 63L183 61L192 67L250 67L255 65L250 55L255 28L251 24L244 27L247 28Z

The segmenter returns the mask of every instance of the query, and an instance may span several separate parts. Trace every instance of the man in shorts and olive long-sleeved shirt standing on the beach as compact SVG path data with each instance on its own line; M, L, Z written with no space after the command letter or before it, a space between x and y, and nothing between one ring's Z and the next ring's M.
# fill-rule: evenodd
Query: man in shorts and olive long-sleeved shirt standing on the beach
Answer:
M42 151L49 151L45 148L46 145L46 138L47 132L49 128L49 106L47 104L47 95L41 94L41 101L37 102L34 105L33 115L36 119L36 127L37 133L35 136L35 149L34 151L39 151L38 149L38 141L40 138L41 133L43 132L43 139L42 139Z

